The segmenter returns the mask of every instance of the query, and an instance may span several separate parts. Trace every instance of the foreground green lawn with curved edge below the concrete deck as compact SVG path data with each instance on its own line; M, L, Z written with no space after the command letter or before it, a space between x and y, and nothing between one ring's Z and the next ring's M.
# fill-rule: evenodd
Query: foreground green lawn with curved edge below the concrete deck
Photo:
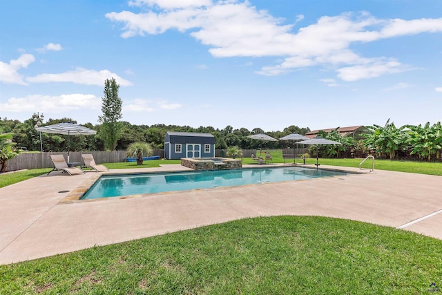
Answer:
M324 217L249 218L0 266L0 294L426 294L442 241Z

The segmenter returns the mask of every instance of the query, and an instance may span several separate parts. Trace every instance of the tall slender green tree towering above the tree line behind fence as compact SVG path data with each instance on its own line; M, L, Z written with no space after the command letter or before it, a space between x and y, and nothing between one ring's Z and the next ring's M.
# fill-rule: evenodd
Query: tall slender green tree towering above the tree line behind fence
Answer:
M118 120L123 117L123 101L118 96L119 84L114 78L106 79L104 82L104 97L102 97L102 116L98 116L102 127L99 130L99 137L104 140L106 150L114 151L117 142L122 136L122 123Z

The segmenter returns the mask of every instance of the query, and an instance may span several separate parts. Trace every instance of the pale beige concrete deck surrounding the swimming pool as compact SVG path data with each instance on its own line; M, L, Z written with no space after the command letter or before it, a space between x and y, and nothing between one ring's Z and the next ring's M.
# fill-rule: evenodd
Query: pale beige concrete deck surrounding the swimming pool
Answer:
M184 170L191 171L164 165L113 172ZM1 188L0 264L256 216L346 218L442 239L441 176L375 170L139 198L61 202L96 176L93 171L74 176L52 172Z

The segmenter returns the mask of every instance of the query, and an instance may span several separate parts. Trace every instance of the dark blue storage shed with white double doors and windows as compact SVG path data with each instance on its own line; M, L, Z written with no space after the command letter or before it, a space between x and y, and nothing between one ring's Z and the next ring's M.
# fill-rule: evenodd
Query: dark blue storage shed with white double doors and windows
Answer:
M164 137L164 158L213 158L215 137L210 133L167 132Z

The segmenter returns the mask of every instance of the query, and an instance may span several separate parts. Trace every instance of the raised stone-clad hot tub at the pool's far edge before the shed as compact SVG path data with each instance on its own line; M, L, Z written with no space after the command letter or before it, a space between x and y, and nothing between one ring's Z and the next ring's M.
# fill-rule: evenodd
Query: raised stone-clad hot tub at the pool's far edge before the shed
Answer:
M194 170L222 170L242 167L242 160L230 158L182 158L182 166Z

